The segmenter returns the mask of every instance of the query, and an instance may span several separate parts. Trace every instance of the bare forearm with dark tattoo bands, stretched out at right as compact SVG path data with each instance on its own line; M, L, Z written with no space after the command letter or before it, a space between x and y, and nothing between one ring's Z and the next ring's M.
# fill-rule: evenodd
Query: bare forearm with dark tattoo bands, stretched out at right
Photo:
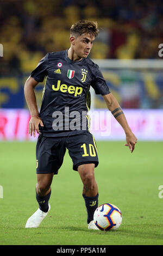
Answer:
M114 115L114 117L116 118L118 123L120 123L124 132L126 133L127 144L125 145L128 146L131 153L133 153L135 149L135 144L137 142L137 138L135 137L134 133L131 131L127 123L126 117L122 111L122 108L120 107L117 100L111 93L104 95L103 99L105 100L106 106L111 111L112 115Z

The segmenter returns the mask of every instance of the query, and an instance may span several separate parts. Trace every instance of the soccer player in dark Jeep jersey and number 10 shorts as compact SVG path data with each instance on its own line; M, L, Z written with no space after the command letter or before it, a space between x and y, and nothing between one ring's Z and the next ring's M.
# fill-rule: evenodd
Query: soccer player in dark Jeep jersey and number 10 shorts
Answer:
M24 85L29 107L30 136L39 133L36 144L36 200L39 209L27 220L26 228L39 227L50 210L53 175L64 160L66 148L83 182L83 198L89 229L98 229L93 214L98 206L95 167L98 166L96 142L89 132L90 86L101 94L109 111L126 133L131 153L137 141L115 97L110 93L97 64L88 58L98 34L97 22L79 21L70 29L70 48L43 57ZM40 112L34 88L46 77Z

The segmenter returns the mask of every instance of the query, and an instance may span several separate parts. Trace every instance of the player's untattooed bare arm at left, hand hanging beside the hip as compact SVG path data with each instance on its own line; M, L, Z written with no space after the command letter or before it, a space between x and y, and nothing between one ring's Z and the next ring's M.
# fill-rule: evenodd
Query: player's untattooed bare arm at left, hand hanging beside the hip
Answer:
M35 81L33 77L29 77L24 84L24 95L26 97L26 101L31 115L28 132L30 136L33 135L34 137L35 131L39 133L39 124L43 126L42 120L39 117L39 111L37 108L36 96L34 92L34 88L37 86L37 84L38 82Z

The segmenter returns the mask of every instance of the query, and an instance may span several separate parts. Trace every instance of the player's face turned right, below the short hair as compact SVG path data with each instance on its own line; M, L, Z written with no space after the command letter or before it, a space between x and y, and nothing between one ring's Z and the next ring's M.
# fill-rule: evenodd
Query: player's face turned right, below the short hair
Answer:
M80 58L86 58L93 46L95 36L90 36L89 34L82 34L73 39L73 50L74 53Z

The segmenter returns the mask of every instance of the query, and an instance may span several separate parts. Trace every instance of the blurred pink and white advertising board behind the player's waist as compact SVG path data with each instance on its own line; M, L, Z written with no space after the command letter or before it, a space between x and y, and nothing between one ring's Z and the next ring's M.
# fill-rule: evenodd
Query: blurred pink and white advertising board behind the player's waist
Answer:
M163 109L123 109L131 130L139 140L163 141ZM98 141L124 140L121 125L107 109L89 112L90 132ZM27 109L0 109L0 141L36 141L28 134Z

